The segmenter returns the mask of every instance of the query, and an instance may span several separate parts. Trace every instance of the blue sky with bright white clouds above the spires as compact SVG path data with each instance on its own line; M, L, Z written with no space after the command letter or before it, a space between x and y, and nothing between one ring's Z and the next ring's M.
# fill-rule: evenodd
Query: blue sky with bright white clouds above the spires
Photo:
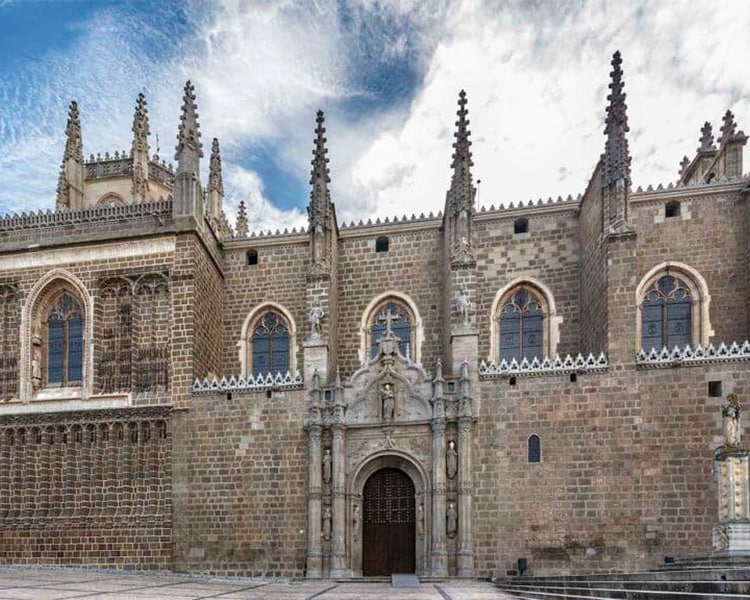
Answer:
M0 213L54 208L71 100L88 156L143 92L173 161L187 79L251 229L306 223L318 108L340 221L442 210L461 89L480 205L575 196L618 49L634 185L667 184L705 121L750 133L748 31L747 0L0 0Z

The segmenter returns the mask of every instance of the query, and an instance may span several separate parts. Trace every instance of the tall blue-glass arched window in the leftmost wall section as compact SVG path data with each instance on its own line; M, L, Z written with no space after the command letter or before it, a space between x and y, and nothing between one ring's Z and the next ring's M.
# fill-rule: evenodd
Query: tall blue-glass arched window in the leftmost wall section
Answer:
M47 317L47 383L83 381L83 310L68 292L57 298Z

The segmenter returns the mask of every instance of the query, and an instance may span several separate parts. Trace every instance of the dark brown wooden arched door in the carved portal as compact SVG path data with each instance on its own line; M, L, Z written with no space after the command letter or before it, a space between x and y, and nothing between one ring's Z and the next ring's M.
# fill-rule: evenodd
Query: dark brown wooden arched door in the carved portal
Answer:
M362 571L368 575L414 573L414 484L400 469L381 469L365 483Z

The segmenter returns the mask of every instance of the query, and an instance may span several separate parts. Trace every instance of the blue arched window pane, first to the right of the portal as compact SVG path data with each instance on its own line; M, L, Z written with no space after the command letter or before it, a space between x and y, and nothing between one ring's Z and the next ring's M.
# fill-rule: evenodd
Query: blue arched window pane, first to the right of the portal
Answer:
M544 357L544 309L536 291L520 286L500 304L500 359L521 361Z

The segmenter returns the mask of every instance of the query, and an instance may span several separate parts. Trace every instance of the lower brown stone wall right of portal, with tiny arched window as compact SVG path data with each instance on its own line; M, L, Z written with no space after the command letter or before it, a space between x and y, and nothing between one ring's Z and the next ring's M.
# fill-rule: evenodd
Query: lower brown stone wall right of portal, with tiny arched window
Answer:
M479 576L519 557L534 573L655 568L710 551L722 393L750 393L747 365L481 382L474 440ZM542 461L527 462L528 436Z

